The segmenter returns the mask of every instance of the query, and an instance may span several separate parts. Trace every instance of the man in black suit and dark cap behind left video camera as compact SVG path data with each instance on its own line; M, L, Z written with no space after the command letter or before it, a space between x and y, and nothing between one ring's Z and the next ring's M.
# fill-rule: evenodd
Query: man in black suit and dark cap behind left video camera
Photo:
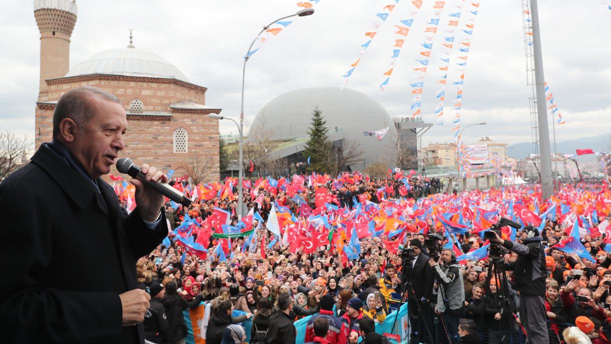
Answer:
M406 266L408 268L406 272L408 278L408 285L406 286L408 292L408 314L411 324L409 335L410 342L422 343L425 338L428 338L428 332L426 332L425 324L422 320L429 324L429 329L433 328L431 327L433 309L430 306L430 302L422 301L422 297L425 296L427 277L431 274L431 268L428 266L428 256L422 252L422 242L419 239L412 239L409 242L409 247L414 249L411 253L414 257L411 263L411 270ZM411 283L411 286L409 283ZM432 288L432 286L429 286L429 288Z

